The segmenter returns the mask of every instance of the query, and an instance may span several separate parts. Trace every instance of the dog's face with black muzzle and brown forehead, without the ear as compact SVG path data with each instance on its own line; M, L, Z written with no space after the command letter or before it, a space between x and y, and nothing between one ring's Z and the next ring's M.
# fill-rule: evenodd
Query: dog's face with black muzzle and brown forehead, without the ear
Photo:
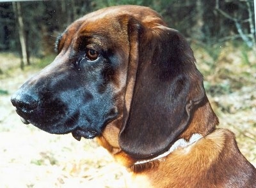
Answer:
M12 98L24 122L80 139L94 138L116 119L122 113L129 54L122 24L99 12L70 25L56 42L56 59Z

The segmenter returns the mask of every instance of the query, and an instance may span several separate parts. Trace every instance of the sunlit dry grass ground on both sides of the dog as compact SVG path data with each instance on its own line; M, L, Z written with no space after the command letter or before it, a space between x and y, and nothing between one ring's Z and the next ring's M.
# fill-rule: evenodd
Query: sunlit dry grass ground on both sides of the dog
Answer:
M256 166L255 55L228 46L215 56L204 48L194 50L220 127L236 134L241 152ZM10 96L40 69L42 60L32 59L21 71L14 54L0 53L0 59L1 187L125 187L124 168L94 140L77 141L71 134L49 134L22 124Z

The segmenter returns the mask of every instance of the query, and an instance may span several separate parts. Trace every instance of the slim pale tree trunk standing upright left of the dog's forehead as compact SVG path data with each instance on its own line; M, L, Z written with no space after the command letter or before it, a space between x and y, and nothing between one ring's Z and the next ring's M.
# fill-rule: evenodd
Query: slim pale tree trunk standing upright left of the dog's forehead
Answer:
M25 36L25 31L24 31L24 24L23 24L23 19L22 19L22 14L21 14L21 7L20 7L20 2L13 2L13 11L15 13L15 17L18 20L19 24L19 40L20 40L20 48L21 48L21 62L20 62L20 68L24 69L24 64L29 64L28 61L28 50L26 46L26 36Z

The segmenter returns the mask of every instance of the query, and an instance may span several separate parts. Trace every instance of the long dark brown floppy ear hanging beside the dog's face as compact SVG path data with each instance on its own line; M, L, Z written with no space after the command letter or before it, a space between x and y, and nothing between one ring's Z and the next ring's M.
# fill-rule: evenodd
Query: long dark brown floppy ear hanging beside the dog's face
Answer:
M119 144L132 157L147 158L177 140L205 91L193 52L178 31L144 29L136 43L136 80Z

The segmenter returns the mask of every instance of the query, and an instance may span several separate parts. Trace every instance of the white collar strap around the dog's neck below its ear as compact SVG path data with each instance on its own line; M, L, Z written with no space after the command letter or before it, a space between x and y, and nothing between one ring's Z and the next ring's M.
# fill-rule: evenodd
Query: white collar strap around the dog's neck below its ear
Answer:
M173 143L172 147L170 147L167 152L164 152L163 154L160 154L157 157L154 157L152 159L137 161L134 164L135 165L136 164L144 164L144 163L148 163L150 161L155 161L155 160L161 159L163 157L166 157L170 153L172 153L174 150L177 150L177 148L188 147L192 143L195 143L196 141L200 140L201 138L203 138L203 136L202 136L202 134L199 134L199 133L192 134L192 136L190 137L189 141L184 140L184 138L180 138L179 140L175 141L175 143Z

